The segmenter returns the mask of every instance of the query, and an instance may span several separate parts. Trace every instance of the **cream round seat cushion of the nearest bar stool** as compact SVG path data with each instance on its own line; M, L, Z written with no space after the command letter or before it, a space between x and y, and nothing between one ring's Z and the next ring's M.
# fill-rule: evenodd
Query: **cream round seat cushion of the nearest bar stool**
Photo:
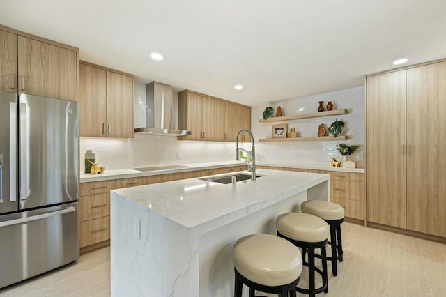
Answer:
M236 241L233 262L238 273L248 280L270 287L290 284L302 272L299 249L270 234L247 235Z

